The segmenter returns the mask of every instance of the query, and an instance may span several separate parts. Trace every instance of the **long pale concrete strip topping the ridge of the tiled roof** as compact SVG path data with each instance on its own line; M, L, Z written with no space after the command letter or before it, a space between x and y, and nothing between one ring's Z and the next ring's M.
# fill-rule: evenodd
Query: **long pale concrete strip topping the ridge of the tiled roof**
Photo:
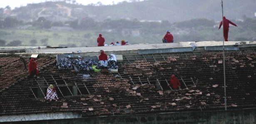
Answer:
M203 42L180 42L180 43L156 43L156 44L134 44L134 45L119 45L119 46L100 46L100 47L78 47L78 48L55 48L55 49L35 49L26 50L26 53L72 53L72 52L99 52L104 51L120 51L120 50L143 50L143 49L159 49L159 48L183 48L191 47L189 43L195 43L197 47L202 46L219 46L223 45L223 41L203 41ZM224 45L241 44L256 44L256 41L228 41Z

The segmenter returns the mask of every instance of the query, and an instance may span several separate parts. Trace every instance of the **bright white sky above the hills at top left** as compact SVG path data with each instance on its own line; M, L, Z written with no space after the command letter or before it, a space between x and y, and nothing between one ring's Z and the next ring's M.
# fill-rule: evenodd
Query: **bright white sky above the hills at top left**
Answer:
M0 8L5 8L7 5L14 9L15 7L26 6L27 3L40 3L50 0L0 0ZM101 2L103 5L112 5L113 1L114 4L122 1L129 1L129 0L76 0L77 3L81 3L82 5L88 5L90 3L97 3ZM142 1L142 0L141 0Z

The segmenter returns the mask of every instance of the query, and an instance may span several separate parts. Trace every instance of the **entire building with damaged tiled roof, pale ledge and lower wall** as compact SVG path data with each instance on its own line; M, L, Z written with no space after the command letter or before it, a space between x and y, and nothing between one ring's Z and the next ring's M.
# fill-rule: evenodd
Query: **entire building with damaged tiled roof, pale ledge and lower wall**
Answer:
M255 123L256 42L225 42L226 92L222 43L103 46L117 57L114 73L56 67L57 56L97 58L99 47L2 51L0 122ZM35 57L40 79L28 77L29 57ZM167 85L172 74L181 90ZM58 101L44 99L50 84Z

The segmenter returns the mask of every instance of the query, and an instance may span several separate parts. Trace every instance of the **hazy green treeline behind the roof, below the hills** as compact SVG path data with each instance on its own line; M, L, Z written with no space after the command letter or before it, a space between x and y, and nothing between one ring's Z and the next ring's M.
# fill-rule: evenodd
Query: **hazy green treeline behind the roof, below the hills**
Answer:
M256 37L256 18L250 18L244 16L243 21L234 21L238 25L237 28L232 27L230 29L229 41L252 41L253 37ZM160 41L164 36L166 30L170 30L174 35L174 42L189 42L189 41L222 41L223 35L218 30L219 22L209 19L191 19L187 21L180 21L176 23L169 23L168 21L138 21L126 20L126 19L106 19L101 22L94 21L92 18L85 18L81 21L55 21L40 17L35 21L24 23L17 20L14 17L6 17L0 21L0 29L18 29L20 26L28 26L25 30L49 30L53 26L65 26L70 27L73 30L90 31L94 33L84 34L84 41L90 42L91 39L97 36L98 33L103 33L111 37L111 41L116 41L115 38L126 38L132 41L139 41L139 43L156 43ZM126 33L126 31L137 30L139 36L134 37L132 33ZM94 35L93 35L94 34ZM0 31L0 35L15 35L5 34ZM53 34L55 37L57 33ZM88 39L90 38L90 39ZM48 39L45 37L44 39ZM43 45L47 45L44 39L40 40ZM50 38L49 38L50 39ZM5 41L0 37L0 43L2 46L17 46L22 43L19 40ZM35 39L30 40L30 43L37 43ZM131 42L130 42L131 43ZM89 44L89 43L88 43ZM84 44L87 46L87 44ZM75 46L72 44L72 46Z

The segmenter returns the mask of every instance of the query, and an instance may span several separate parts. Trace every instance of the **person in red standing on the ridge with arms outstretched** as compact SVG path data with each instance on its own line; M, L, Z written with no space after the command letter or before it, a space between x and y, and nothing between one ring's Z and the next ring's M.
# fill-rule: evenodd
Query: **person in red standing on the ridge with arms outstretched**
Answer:
M229 19L226 19L226 17L223 17L223 36L225 41L228 41L228 37L229 37L229 24L232 24L237 27L237 25L234 24L232 21L229 21ZM222 25L222 21L219 24L219 29L221 28L221 25Z

